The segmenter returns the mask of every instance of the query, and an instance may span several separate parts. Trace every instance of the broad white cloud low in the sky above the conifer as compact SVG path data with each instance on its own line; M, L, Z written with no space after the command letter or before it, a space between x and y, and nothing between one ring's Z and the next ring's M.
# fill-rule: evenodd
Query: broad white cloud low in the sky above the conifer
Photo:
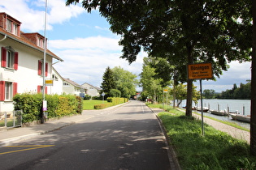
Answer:
M141 73L145 53L140 53L137 62L129 65L128 61L119 58L122 48L118 41L118 38L102 36L50 40L49 48L65 61L54 66L64 78L99 87L107 66L120 66L137 75Z

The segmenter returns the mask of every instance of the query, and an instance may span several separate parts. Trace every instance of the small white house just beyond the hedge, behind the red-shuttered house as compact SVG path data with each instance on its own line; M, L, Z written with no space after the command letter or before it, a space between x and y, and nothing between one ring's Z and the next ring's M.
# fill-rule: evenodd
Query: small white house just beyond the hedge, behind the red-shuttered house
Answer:
M81 85L79 85L76 82L73 82L70 79L63 78L63 93L84 97L85 87L82 87Z

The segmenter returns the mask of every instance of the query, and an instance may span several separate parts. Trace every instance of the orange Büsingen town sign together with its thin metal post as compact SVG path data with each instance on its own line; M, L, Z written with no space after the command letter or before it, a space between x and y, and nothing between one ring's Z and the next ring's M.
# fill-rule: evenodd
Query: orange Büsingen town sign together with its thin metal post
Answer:
M203 126L203 112L202 112L202 79L212 79L211 63L200 63L188 65L189 79L200 80L200 97L201 97L201 115L202 115L202 135L205 134Z

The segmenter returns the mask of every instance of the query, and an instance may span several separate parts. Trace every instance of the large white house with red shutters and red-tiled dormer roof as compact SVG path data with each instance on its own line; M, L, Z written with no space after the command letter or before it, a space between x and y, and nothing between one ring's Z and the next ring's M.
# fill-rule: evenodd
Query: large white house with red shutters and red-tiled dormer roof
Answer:
M38 93L43 86L45 37L37 32L21 32L20 25L17 19L0 13L0 112L13 110L12 98L16 93ZM47 49L46 79L52 78L53 58L63 62ZM48 90L46 87L45 92L49 93Z

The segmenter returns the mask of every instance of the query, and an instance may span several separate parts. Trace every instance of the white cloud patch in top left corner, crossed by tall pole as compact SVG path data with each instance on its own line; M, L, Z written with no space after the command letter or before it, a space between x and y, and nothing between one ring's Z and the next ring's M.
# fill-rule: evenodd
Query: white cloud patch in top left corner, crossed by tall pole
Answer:
M63 23L85 12L81 6L66 6L65 0L48 1L47 26L53 29L54 23ZM6 12L22 23L22 29L39 32L45 28L45 0L0 0L0 11Z

